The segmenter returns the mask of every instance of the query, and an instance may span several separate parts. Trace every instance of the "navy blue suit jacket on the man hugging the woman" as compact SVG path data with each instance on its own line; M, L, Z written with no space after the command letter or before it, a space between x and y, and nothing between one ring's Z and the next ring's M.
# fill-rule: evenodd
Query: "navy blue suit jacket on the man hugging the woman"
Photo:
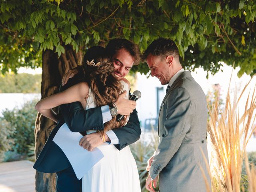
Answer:
M77 84L81 80L72 78L65 86L60 86L60 91ZM72 132L84 132L86 130L103 130L102 111L100 107L84 110L80 102L60 105L60 120L52 130L42 151L33 166L36 170L44 173L54 173L70 167L70 162L64 152L52 141L59 128L66 122ZM113 130L120 144L115 145L121 150L125 146L136 142L140 138L141 129L137 111L133 110L128 123Z

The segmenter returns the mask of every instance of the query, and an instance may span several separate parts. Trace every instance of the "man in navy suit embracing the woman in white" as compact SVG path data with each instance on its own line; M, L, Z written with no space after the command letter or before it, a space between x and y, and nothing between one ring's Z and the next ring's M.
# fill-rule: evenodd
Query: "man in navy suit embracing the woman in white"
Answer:
M118 79L124 78L133 65L140 62L140 52L136 44L126 39L113 39L106 49L112 55L115 67L115 75ZM64 75L60 91L66 90L70 86L77 84L84 74L81 68L70 70ZM77 74L78 73L78 74ZM68 80L68 78L74 78ZM68 82L67 82L68 80ZM67 84L66 84L67 82ZM106 132L106 141L114 144L116 148L122 150L129 144L136 142L140 138L141 130L136 109L132 111L131 103L123 102L123 98L118 98L118 113L130 113L128 123L115 130ZM135 104L136 105L136 104ZM134 106L134 103L133 103ZM52 130L44 148L40 152L34 164L34 168L44 173L57 173L56 188L58 192L80 192L82 191L82 180L78 180L74 170L62 150L52 141L59 128L66 122L72 132L84 134L86 130L103 130L104 123L111 120L113 114L110 108L113 105L106 105L84 110L80 102L60 105L60 119L56 127ZM102 143L98 133L84 136L81 140L82 146L87 150Z

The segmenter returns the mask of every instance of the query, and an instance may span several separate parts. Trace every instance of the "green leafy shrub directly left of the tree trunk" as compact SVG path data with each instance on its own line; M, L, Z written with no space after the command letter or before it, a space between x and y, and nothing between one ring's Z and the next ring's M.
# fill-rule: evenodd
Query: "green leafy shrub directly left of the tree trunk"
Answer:
M37 111L34 109L36 100L24 104L21 109L4 110L0 122L6 120L10 124L12 134L8 136L14 141L11 150L19 154L27 154L29 145L34 145L34 128Z

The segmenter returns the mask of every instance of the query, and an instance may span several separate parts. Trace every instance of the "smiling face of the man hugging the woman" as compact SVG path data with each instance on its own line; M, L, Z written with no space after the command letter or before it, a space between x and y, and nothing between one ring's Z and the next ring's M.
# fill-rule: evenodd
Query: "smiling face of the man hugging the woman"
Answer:
M124 78L132 68L134 58L124 48L118 50L112 58L114 61L115 76L118 79Z

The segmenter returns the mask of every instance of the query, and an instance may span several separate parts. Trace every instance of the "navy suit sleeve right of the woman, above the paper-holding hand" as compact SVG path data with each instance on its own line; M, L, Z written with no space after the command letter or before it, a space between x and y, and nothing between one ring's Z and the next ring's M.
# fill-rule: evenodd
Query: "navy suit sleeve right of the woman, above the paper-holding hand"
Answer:
M120 142L120 144L115 145L118 150L136 142L140 138L141 134L137 110L133 110L132 114L130 114L129 121L125 126L114 129L113 131Z

